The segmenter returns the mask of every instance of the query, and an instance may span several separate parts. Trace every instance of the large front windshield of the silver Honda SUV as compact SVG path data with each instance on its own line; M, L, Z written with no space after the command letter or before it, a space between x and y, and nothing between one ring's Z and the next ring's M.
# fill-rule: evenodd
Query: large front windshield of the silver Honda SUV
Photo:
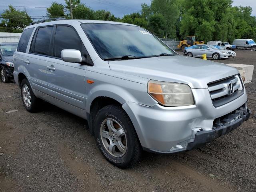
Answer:
M161 40L137 26L86 23L82 28L102 59L176 54Z

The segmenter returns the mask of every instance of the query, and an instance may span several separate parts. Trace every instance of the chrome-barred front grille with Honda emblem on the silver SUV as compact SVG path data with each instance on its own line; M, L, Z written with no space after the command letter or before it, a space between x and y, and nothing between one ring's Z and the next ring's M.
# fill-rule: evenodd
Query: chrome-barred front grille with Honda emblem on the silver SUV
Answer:
M208 83L208 90L215 107L231 102L244 93L244 87L238 75Z

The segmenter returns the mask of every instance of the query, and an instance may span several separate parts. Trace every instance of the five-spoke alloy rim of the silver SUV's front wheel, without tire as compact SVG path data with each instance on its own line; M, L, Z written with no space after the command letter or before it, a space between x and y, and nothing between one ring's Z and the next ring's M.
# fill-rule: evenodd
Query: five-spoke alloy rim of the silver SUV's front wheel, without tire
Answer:
M104 120L100 126L100 137L104 148L114 157L122 157L127 150L126 134L114 119Z

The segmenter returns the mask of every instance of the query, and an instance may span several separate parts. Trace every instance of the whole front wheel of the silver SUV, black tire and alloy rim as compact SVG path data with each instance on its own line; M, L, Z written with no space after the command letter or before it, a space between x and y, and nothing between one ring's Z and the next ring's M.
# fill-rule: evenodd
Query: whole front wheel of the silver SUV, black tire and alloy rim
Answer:
M120 106L108 105L96 114L94 135L102 155L119 168L134 166L142 148L134 126Z

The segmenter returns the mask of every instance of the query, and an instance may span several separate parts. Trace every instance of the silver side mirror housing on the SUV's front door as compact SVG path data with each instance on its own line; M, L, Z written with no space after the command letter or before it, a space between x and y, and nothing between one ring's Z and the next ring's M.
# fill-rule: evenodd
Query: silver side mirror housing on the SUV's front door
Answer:
M81 52L76 49L63 49L60 53L60 57L63 61L70 63L81 63Z

